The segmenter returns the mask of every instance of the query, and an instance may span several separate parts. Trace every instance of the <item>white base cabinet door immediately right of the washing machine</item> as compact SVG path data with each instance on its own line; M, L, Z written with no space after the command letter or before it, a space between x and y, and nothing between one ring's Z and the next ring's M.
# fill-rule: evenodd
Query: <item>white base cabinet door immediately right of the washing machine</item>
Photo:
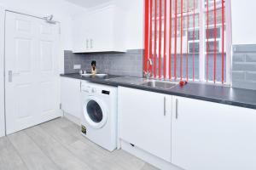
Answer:
M119 88L119 116L121 139L171 161L172 96Z

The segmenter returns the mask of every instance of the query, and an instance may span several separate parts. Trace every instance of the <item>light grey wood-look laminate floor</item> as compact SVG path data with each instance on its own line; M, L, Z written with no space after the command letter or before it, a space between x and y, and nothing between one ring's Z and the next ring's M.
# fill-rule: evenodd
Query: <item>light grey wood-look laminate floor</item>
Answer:
M65 118L0 138L0 170L155 170L124 150L108 152Z

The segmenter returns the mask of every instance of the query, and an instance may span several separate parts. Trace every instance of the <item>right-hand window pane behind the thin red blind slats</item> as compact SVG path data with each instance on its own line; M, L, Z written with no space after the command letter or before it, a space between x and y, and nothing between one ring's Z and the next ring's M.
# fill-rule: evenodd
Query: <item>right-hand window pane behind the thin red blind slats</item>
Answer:
M207 9L208 7L208 9ZM224 67L224 82L226 81L226 51L222 47L222 39L225 41L225 26L223 35L223 16L222 16L222 1L216 0L216 17L214 14L214 1L205 0L205 79L216 82L222 82L222 68ZM215 25L216 20L216 25ZM224 20L225 25L225 20ZM215 30L216 28L216 30ZM216 42L215 42L216 37ZM225 45L225 44L224 44ZM223 53L224 52L224 53Z

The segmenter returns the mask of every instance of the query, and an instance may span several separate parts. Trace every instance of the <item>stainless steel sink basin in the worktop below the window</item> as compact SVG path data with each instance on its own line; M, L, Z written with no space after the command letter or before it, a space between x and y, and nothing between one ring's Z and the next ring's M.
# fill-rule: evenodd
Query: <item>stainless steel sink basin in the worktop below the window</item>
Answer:
M156 81L156 80L148 80L146 82L142 82L139 85L148 86L151 88L164 88L170 89L177 86L177 82L165 82L165 81Z

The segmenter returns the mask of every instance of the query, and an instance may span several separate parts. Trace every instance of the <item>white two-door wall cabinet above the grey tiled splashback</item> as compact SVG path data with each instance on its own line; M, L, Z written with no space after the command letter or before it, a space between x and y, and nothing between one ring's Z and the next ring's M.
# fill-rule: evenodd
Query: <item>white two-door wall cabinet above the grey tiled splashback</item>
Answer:
M125 52L124 14L110 5L73 20L73 52Z

